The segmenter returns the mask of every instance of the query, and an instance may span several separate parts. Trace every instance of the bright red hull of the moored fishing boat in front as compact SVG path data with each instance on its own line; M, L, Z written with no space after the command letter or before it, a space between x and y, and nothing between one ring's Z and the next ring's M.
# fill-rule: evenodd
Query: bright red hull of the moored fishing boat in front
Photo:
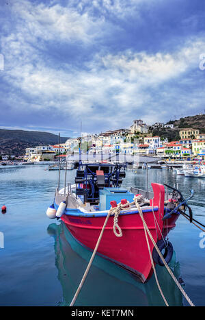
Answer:
M158 207L158 210L154 211L154 215L162 232L165 190L161 184L152 184L152 188L154 190L154 207ZM161 239L161 232L158 228L156 229L154 215L151 207L149 212L143 212L143 217L156 242ZM68 230L77 241L94 250L105 218L82 217L82 215L76 217L64 214L61 220L66 223ZM175 226L176 219L175 217L172 221L169 219L169 230ZM145 282L152 271L152 264L141 217L139 213L120 214L118 224L122 229L122 237L116 237L113 234L113 217L109 217L97 253L135 273L141 282ZM154 246L151 241L149 243L152 251Z

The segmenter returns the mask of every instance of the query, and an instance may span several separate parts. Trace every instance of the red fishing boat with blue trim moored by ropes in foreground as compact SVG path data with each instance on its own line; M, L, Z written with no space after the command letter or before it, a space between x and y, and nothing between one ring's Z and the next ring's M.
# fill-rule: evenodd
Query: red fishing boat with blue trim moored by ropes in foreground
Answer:
M152 262L146 242L146 235L139 210L132 204L135 193L122 188L123 166L111 164L81 164L73 188L57 190L53 206L47 214L60 218L68 227L72 236L90 250L94 250L100 231L105 222L111 204L124 204L118 215L117 230L113 216L110 216L103 233L97 254L111 260L120 267L136 275L140 282L146 282L152 275ZM75 193L72 193L74 189ZM152 183L152 198L141 197L140 208L143 219L152 234L152 238L164 250L163 257L168 263L172 258L173 247L167 241L169 230L175 227L178 219L179 197L165 201L165 187ZM113 202L114 201L114 202ZM125 208L126 203L128 208ZM129 205L131 204L131 205ZM180 210L182 204L180 203ZM184 204L185 206L186 204ZM52 211L53 210L53 211ZM113 232L115 231L115 232ZM117 235L117 236L116 236ZM150 251L155 263L161 263L154 245L149 240Z

